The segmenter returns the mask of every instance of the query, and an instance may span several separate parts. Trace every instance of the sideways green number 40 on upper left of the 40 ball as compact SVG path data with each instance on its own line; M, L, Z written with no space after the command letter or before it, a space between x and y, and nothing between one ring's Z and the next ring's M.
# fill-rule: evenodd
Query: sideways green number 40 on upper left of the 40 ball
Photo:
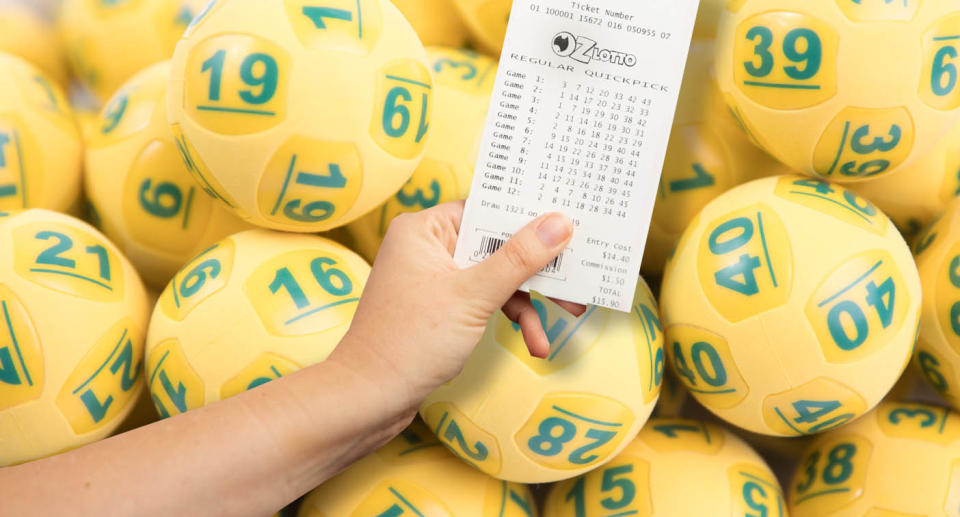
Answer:
M709 247L714 255L735 253L753 239L754 224L746 217L731 219L710 234ZM756 269L761 265L760 257L743 253L736 264L727 266L714 273L714 280L720 287L737 293L753 296L760 292L757 286Z

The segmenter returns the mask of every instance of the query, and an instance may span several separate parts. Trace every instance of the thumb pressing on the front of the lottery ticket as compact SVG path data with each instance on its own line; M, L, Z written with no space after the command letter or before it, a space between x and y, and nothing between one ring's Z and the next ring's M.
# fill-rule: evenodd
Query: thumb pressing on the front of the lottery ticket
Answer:
M565 215L543 215L489 258L466 270L469 285L486 301L501 307L524 282L557 258L571 237L573 223Z

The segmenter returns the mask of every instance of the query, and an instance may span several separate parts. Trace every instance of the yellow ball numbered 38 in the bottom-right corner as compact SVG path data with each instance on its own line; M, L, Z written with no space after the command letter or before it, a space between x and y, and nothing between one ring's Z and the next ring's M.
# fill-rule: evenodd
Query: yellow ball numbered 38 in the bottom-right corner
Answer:
M818 437L794 471L793 517L956 515L960 415L939 406L884 402Z

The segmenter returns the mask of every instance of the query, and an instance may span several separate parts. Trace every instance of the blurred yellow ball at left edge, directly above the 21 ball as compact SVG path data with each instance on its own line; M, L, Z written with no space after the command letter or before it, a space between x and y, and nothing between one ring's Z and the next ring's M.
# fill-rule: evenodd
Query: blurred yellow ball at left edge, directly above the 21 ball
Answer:
M0 53L0 210L78 205L83 147L59 86Z

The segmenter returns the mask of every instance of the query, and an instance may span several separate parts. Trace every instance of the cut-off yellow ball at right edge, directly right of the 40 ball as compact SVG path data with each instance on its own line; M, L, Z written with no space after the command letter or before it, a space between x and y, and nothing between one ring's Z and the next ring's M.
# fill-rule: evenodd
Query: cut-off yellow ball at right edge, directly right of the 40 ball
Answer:
M914 245L923 286L916 364L930 384L960 407L960 200Z

